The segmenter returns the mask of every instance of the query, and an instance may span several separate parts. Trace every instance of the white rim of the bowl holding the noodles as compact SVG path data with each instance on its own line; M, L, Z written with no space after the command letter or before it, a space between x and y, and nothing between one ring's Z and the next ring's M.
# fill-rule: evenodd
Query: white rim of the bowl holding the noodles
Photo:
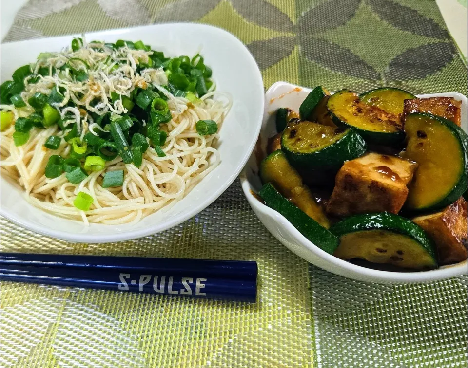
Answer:
M190 29L200 29L200 30L208 30L210 32L215 32L218 34L222 34L223 38L225 39L230 39L230 43L234 44L236 47L240 47L245 51L245 56L246 60L248 63L252 66L252 71L253 74L255 75L255 79L252 83L253 88L258 88L258 91L255 93L258 93L258 96L260 98L261 106L259 106L258 110L258 116L254 117L254 121L258 121L257 127L255 128L255 133L254 137L255 139L252 140L252 142L249 144L248 147L245 147L244 155L242 157L242 160L237 163L235 166L235 169L231 171L231 175L226 177L224 184L219 186L215 191L209 193L204 200L199 201L197 205L191 206L187 208L186 211L181 212L180 214L174 216L174 218L170 221L163 221L160 223L155 223L154 226L149 226L145 227L139 230L128 230L128 231L123 231L123 232L112 232L112 229L119 226L119 225L107 225L109 226L109 232L104 233L104 234L78 234L78 233L67 233L66 230L59 231L59 230L53 230L53 229L48 229L45 227L40 226L40 224L32 223L30 221L24 220L19 214L16 214L12 211L9 210L9 208L4 208L3 206L0 207L0 215L8 219L9 221L26 228L28 230L34 231L38 234L45 235L48 237L52 237L55 239L60 239L60 240L65 240L69 242L78 242L78 243L105 243L105 242L117 242L117 241L126 241L126 240L132 240L132 239L137 239L137 238L142 238L142 237L147 237L150 235L157 234L159 232L162 232L164 230L168 230L174 226L177 226L178 224L189 220L190 218L194 217L196 214L199 212L203 211L206 207L208 207L210 204L212 204L221 194L224 193L224 191L234 182L234 180L237 178L239 173L241 172L242 168L245 166L247 161L249 160L252 152L254 151L254 147L256 144L256 137L258 137L260 133L260 129L262 127L262 118L264 114L264 107L265 107L265 90L263 86L263 79L262 75L260 72L260 69L254 59L254 56L252 53L249 51L249 49L233 34L230 32L213 26L213 25L208 25L208 24L200 24L200 23L189 23L189 22L171 22L171 23L161 23L161 24L148 24L144 26L138 26L138 27L126 27L126 28L117 28L117 29L111 29L111 30L102 30L102 31L95 31L95 32L88 32L86 35L92 36L92 37L97 37L97 35L100 35L102 37L106 36L114 36L114 35L120 35L120 34L125 34L128 31L139 31L139 30L146 30L147 28L154 28L154 27L161 27L161 28L167 28L167 27L185 27L185 28L190 28ZM79 36L79 35L78 35ZM31 40L22 40L22 41L16 41L16 42L8 42L8 43L2 43L1 46L3 47L12 47L15 46L16 44L22 46L24 44L27 44L30 41L38 41L38 40L49 40L49 41L54 41L58 39L63 39L64 37L77 37L77 35L71 34L71 35L63 35L59 37L43 37L39 39L31 39ZM219 166L222 165L222 161L219 164ZM218 166L218 167L219 167ZM210 173L212 174L212 173ZM203 178L205 180L209 179L208 178ZM6 180L2 178L2 180ZM202 180L203 182L203 180ZM182 199L183 200L183 199ZM150 215L151 216L151 215ZM61 217L58 217L59 220L61 221L72 221L69 219L64 219Z

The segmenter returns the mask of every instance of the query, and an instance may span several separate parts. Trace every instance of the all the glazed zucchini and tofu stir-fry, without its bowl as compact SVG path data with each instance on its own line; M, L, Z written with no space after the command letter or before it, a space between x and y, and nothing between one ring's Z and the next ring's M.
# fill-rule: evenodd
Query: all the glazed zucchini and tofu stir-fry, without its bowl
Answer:
M280 108L260 196L344 260L427 270L467 259L467 134L461 103L396 88L316 87Z

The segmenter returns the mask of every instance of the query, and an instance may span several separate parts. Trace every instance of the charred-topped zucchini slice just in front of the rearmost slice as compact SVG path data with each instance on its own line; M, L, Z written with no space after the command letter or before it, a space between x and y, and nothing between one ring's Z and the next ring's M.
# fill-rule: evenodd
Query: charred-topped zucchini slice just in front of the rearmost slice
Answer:
M397 145L405 138L403 124L398 115L359 100L356 93L341 90L331 95L327 102L334 123L358 129L368 143Z

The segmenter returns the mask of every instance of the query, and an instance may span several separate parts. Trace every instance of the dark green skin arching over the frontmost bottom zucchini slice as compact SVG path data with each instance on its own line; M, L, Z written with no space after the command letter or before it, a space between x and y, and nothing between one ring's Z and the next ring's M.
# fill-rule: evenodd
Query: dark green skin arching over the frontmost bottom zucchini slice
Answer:
M413 221L389 212L351 216L331 226L330 232L338 238L356 231L387 230L406 235L418 243L437 263L437 251L434 242L426 232Z

